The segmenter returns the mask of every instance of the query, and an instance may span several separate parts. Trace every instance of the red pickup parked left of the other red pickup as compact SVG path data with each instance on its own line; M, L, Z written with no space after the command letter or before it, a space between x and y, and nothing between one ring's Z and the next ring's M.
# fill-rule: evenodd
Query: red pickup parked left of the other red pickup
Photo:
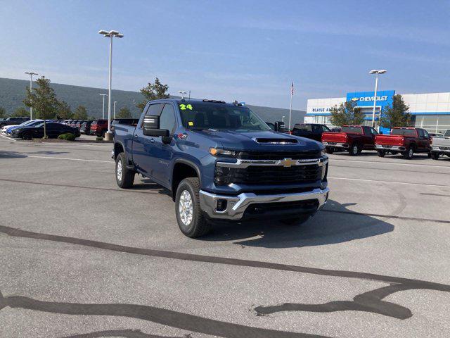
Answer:
M328 154L344 150L356 156L363 150L375 149L374 140L377 134L373 127L366 125L344 125L341 132L323 132L322 143Z

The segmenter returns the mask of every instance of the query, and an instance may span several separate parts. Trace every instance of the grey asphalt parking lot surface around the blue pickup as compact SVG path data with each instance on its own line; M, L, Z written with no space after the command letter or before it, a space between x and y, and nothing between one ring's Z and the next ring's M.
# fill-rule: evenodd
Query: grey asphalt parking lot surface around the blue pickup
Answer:
M0 138L0 337L449 337L450 158L330 155L330 201L179 232L109 144Z

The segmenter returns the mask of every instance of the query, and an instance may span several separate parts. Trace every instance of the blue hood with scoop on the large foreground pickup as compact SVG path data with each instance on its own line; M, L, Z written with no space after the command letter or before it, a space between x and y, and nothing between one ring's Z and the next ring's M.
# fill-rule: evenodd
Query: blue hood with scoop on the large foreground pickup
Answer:
M238 151L311 151L323 148L320 142L271 131L201 130L196 133L224 149Z

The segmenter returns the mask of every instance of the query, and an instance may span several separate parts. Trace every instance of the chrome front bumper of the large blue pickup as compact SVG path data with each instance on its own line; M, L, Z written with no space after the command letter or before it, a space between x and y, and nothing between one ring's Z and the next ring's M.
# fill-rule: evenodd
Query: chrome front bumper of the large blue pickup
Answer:
M210 216L210 218L221 218L226 220L240 220L243 218L245 210L250 204L276 203L307 201L316 199L319 201L319 208L326 204L330 189L313 189L311 192L299 192L293 194L254 194L252 192L243 192L238 196L217 195L200 190L200 208ZM217 201L226 201L224 211L217 211Z

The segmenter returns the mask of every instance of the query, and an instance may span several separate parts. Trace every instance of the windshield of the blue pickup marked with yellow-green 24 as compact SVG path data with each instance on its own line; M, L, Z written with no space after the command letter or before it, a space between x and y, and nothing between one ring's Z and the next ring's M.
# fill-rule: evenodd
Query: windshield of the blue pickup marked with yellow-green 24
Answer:
M215 102L179 103L181 120L186 128L216 130L271 130L263 120L245 106Z

